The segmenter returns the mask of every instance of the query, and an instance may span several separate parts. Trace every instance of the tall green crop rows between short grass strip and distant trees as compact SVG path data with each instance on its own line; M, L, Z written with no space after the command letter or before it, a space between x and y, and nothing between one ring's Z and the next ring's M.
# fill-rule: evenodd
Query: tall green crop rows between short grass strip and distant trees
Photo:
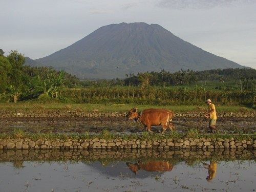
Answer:
M170 88L89 88L67 89L65 97L76 103L95 104L151 104L151 105L198 105L211 98L219 105L252 106L256 98L250 91L206 91L204 89Z

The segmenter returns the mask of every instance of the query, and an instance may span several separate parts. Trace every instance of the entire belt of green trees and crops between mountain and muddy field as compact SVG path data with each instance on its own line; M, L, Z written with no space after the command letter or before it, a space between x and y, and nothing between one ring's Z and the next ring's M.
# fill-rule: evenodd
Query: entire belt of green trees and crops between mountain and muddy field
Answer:
M126 110L127 106L134 105L141 105L142 109L144 106L201 106L210 98L217 105L255 108L254 69L180 70L175 73L162 70L137 76L130 74L125 79L80 81L64 71L23 66L24 63L24 56L17 51L5 57L1 50L0 102L24 102L32 107L37 102L42 108L47 108L47 104L86 104L84 108L103 111L112 111L110 105L113 105L115 111L122 105ZM95 106L97 104L99 106ZM94 105L94 109L90 109L90 105Z

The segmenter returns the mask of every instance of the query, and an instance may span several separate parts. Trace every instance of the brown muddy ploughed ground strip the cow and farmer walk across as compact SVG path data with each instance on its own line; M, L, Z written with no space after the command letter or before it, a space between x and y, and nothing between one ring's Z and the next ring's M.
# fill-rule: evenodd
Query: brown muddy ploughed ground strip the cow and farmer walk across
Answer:
M3 118L0 119L0 133L11 134L15 129L28 133L85 133L98 134L102 130L119 134L141 133L143 125L126 118ZM174 118L178 132L189 128L198 128L200 133L208 132L208 120L199 118ZM253 134L256 131L255 119L219 118L216 127L220 133L243 132ZM161 133L161 126L153 126L152 131ZM168 132L168 131L166 131Z

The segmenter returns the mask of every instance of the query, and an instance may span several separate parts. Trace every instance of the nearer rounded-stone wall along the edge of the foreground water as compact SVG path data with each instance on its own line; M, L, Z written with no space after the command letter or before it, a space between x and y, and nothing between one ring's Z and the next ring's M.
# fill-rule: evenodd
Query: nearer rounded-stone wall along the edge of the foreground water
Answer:
M121 149L157 149L157 150L177 150L177 149L223 149L231 148L243 151L246 149L256 149L256 139L236 140L222 138L200 138L200 139L0 139L0 150L121 150Z

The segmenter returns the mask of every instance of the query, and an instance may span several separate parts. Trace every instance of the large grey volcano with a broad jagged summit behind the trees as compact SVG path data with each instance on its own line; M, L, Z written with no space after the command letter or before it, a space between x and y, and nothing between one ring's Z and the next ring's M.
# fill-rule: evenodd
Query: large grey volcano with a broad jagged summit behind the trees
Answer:
M208 53L159 25L121 23L101 27L30 65L52 66L81 78L124 78L139 72L242 68Z

